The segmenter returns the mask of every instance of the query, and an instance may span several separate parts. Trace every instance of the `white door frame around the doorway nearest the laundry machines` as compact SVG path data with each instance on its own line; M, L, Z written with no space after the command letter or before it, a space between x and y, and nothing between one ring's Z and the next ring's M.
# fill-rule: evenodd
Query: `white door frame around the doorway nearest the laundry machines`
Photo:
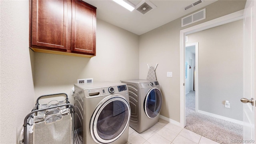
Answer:
M216 26L220 26L223 24L228 24L230 22L234 22L236 20L243 19L244 10L240 10L226 16L222 16L208 22L204 22L202 24L198 24L196 26L192 26L190 28L186 28L184 30L180 30L180 127L184 128L186 126L186 112L185 112L185 35L192 34L195 32L200 32L202 30L206 30L209 28L213 28Z

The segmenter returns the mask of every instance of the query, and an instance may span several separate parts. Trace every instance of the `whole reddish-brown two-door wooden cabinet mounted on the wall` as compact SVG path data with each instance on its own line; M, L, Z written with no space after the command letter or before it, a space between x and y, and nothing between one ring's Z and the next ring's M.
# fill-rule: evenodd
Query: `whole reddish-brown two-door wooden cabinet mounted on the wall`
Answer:
M88 57L96 55L94 6L82 0L31 0L30 12L32 50L76 56L86 54Z

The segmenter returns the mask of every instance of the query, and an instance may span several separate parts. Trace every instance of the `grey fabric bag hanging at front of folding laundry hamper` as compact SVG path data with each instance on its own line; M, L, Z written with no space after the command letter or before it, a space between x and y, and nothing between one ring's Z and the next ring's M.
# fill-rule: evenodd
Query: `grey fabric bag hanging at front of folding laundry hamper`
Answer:
M68 113L35 117L33 144L71 144L72 118Z

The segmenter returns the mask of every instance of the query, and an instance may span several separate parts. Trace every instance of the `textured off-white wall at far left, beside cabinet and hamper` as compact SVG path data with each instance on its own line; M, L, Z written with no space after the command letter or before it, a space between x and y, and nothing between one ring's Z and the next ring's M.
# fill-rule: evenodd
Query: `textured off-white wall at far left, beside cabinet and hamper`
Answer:
M0 144L16 144L25 116L34 107L28 48L28 1L1 0Z

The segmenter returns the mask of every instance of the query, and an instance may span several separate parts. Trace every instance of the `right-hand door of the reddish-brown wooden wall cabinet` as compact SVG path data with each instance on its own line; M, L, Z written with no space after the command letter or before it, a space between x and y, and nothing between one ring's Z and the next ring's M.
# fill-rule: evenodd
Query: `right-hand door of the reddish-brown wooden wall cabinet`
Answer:
M72 1L72 52L96 55L96 8Z

